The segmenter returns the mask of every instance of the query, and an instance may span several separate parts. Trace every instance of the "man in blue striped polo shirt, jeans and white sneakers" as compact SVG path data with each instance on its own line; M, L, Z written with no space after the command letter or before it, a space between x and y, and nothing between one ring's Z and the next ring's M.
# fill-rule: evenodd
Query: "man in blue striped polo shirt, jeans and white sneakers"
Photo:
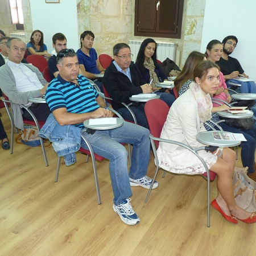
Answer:
M46 101L60 125L84 127L90 118L112 117L105 109L104 100L88 80L79 75L79 61L73 49L63 49L57 54L59 75L48 85ZM114 212L128 225L140 219L130 204L131 186L149 189L152 179L146 176L150 159L149 131L133 123L112 130L96 130L93 134L83 133L93 151L109 159L110 179L114 193ZM120 143L133 144L130 172L127 171L127 151ZM81 147L88 150L85 143ZM153 188L158 187L155 181Z

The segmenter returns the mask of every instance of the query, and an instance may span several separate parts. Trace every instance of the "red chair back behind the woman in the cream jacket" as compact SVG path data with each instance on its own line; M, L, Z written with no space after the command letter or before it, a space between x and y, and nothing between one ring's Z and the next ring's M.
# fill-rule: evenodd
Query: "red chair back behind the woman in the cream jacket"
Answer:
M145 114L147 117L148 126L150 128L150 133L154 137L160 138L163 125L166 122L167 114L170 110L166 102L156 99L147 101L144 106ZM158 147L159 142L155 141L156 147Z

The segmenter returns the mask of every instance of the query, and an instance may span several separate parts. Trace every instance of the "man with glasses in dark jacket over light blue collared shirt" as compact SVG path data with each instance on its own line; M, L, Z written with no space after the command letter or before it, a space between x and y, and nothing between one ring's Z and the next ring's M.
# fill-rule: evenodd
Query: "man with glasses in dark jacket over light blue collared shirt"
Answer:
M129 97L139 93L151 93L152 87L142 79L141 74L131 62L131 50L125 43L118 43L113 47L114 60L106 69L103 85L113 99L112 106L123 118L133 121L133 117L129 110L121 104L133 103ZM147 118L144 113L144 104L135 102L134 106L130 106L135 114L139 125L148 129Z

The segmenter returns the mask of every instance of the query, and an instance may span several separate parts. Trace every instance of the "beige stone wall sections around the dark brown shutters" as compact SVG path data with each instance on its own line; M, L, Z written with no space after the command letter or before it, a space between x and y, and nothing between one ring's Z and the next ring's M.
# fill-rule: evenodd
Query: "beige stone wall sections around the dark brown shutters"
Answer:
M7 0L5 0L7 1ZM32 32L30 0L22 0L24 30L27 42ZM181 51L184 65L191 51L200 51L203 33L205 0L184 0L181 39L154 38L160 42L175 42ZM79 35L85 30L93 31L97 53L113 55L114 44L129 40L144 40L134 36L135 0L77 0ZM61 23L58 25L61 26Z

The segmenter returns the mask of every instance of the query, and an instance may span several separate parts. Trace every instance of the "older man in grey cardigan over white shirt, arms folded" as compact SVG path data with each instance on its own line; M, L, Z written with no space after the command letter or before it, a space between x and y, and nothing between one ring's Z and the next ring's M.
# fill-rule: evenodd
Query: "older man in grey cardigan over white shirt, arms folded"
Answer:
M26 44L19 38L10 38L7 41L8 60L0 68L0 88L13 102L30 105L30 110L39 121L47 119L50 111L47 104L31 104L29 97L40 97L48 86L38 68L22 63L26 52ZM24 130L23 119L32 120L31 115L18 105L12 105L14 123L18 129Z

